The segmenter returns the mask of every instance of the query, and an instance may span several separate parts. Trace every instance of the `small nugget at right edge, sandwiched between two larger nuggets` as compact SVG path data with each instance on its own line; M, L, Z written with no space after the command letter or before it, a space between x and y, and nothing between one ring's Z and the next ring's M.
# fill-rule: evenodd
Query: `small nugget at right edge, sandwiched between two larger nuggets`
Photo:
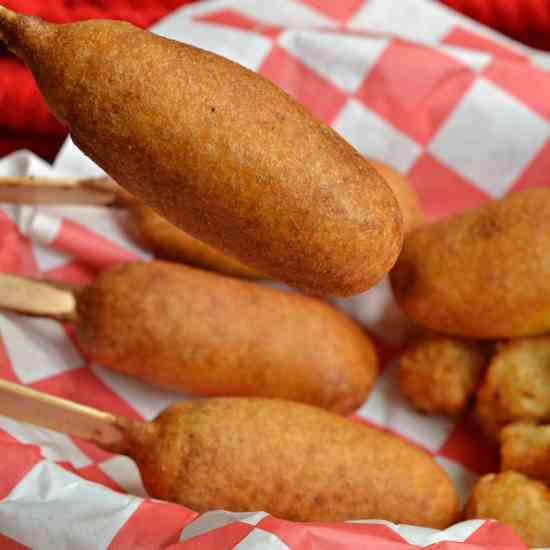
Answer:
M550 485L550 425L517 422L500 432L501 470L516 470Z

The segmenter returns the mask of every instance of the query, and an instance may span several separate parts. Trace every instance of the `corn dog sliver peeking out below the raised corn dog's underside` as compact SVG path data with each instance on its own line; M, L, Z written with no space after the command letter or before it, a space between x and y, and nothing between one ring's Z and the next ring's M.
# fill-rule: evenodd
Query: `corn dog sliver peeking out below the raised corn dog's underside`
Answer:
M187 263L233 277L261 279L258 271L194 239L139 201L128 203L134 238L166 260Z

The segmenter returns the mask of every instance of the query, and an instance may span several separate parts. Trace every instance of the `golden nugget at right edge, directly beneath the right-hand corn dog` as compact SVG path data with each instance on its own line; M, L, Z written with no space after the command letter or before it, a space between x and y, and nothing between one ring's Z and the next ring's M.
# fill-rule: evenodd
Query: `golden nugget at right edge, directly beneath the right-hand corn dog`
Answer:
M550 420L550 337L522 338L499 347L477 394L476 416L495 440L512 422Z

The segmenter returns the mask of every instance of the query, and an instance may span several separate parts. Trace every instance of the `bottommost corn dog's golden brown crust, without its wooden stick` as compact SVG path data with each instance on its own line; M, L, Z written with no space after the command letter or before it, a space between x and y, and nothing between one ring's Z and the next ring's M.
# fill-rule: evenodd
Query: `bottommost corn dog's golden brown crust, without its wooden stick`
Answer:
M447 527L457 494L419 448L299 403L210 399L169 407L136 458L153 496L198 512L264 510L295 521L386 519Z

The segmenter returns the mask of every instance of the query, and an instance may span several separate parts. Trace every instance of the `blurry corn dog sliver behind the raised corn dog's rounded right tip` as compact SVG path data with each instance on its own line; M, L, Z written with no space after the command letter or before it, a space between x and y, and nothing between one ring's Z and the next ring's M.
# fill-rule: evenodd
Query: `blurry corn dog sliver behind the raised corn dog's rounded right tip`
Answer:
M403 215L403 233L407 234L424 225L426 216L422 210L420 199L407 178L389 164L373 159L369 159L369 162L391 187L397 199Z

